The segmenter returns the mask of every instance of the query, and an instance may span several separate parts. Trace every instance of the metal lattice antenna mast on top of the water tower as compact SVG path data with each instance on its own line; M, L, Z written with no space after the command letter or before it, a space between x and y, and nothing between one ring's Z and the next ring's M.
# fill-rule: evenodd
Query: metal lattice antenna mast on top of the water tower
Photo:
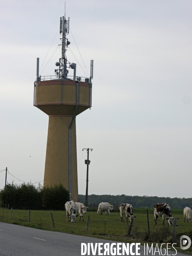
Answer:
M62 56L59 59L59 79L67 79L68 75L68 70L67 70L67 64L69 64L70 68L70 63L67 62L67 57L66 57L66 47L70 44L70 41L68 41L68 38L66 38L66 35L69 34L69 20L66 20L65 16L60 17L60 35L62 35L61 41L62 41Z

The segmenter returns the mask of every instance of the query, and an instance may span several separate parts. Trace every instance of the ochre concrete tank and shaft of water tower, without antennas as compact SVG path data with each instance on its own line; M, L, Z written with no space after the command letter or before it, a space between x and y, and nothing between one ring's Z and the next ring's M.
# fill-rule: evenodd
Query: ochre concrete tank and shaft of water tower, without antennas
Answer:
M90 108L90 90L90 84L81 81L58 79L35 84L35 106L49 115L44 186L62 183L70 189L71 184L71 199L74 201L78 200L76 120L71 127L70 157L69 127L75 111L78 115Z

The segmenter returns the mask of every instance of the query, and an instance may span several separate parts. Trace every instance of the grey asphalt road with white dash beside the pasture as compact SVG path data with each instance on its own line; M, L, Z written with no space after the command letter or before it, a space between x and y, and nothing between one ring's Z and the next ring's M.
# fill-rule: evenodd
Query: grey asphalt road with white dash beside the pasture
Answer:
M111 244L114 241L38 230L0 222L0 256L80 256L81 243ZM146 255L146 252L144 254L144 247L140 245L139 247L140 255ZM135 252L134 249L135 246L133 252ZM169 255L175 253L175 251L169 251ZM152 254L148 253L148 255ZM158 256L159 253L156 252L155 255ZM177 253L177 256L184 255L186 256L186 254Z

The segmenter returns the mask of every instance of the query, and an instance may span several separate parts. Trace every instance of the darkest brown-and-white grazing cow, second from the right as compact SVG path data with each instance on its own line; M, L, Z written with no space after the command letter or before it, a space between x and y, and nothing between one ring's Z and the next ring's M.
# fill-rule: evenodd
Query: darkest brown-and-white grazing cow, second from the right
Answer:
M162 203L162 204L155 204L154 205L154 222L157 224L157 218L160 216L163 218L163 225L165 224L165 217L167 216L166 220L168 220L168 224L170 226L173 225L173 221L175 218L172 217L172 212L169 204Z

